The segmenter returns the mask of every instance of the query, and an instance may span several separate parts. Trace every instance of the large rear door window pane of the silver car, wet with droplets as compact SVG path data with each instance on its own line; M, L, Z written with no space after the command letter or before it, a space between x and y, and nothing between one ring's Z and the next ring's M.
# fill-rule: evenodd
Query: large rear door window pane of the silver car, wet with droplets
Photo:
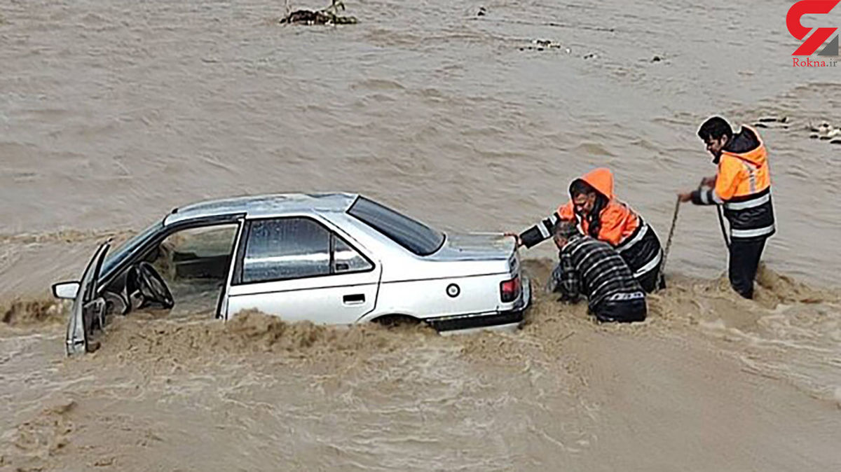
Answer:
M308 218L251 223L243 283L283 281L331 273L331 233Z

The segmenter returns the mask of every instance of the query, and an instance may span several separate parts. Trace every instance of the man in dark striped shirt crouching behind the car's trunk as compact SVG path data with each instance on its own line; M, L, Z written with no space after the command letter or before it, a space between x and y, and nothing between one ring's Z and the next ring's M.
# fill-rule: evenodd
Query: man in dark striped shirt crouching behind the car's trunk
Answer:
M569 220L554 228L560 263L553 270L549 290L561 300L577 302L587 297L590 312L600 322L643 321L647 313L645 292L625 260L610 244L584 236Z

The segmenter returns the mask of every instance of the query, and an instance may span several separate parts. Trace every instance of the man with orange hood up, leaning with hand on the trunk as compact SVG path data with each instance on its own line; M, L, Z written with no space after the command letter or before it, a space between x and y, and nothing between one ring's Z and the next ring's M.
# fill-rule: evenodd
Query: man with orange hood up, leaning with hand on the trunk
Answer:
M581 233L611 244L630 267L643 290L652 292L664 287L660 274L663 249L648 223L613 194L611 170L591 170L569 186L571 200L557 212L517 237L518 244L531 248L548 239L560 220L574 220Z

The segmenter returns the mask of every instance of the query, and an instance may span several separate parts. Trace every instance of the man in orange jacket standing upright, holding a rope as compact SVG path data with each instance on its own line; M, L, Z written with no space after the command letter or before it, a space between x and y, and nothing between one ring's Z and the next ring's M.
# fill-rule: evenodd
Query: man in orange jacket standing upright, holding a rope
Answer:
M730 123L721 117L706 120L698 136L706 143L718 172L701 180L696 191L679 193L678 198L680 202L724 207L730 223L730 285L739 295L753 298L765 240L776 231L768 151L754 128L742 126L733 134Z

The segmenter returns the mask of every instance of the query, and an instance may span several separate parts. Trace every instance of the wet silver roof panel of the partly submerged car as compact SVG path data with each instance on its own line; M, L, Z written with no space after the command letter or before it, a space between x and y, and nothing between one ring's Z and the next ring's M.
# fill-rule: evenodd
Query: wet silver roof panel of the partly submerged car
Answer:
M242 213L250 218L260 218L312 210L346 212L357 197L354 193L276 193L210 200L175 208L164 224Z

